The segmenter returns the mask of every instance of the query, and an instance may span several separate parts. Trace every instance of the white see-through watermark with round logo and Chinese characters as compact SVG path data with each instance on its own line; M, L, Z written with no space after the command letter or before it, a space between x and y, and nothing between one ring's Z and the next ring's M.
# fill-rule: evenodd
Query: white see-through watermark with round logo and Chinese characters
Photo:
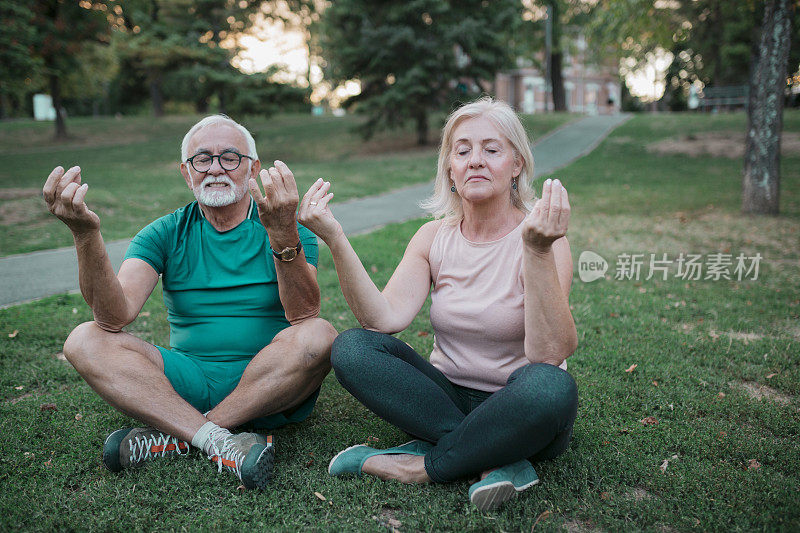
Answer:
M740 253L734 257L730 253L685 254L670 258L668 254L628 254L617 255L614 266L614 279L618 281L647 281L657 278L666 281L672 278L697 280L757 280L759 266L763 259L760 253L753 256ZM608 261L600 254L585 250L578 258L578 277L584 283L605 278Z

